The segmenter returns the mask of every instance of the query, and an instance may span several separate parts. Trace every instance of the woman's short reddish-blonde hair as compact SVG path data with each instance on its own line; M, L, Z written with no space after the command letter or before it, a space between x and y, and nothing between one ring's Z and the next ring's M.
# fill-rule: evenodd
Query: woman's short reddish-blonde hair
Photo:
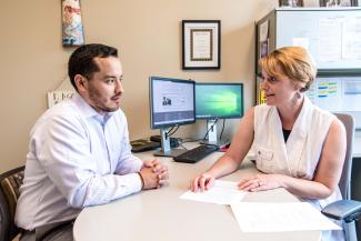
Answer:
M317 69L312 57L301 47L283 47L260 59L260 66L267 74L277 79L288 77L302 84L301 91L307 91L315 79ZM281 74L277 68L281 68Z

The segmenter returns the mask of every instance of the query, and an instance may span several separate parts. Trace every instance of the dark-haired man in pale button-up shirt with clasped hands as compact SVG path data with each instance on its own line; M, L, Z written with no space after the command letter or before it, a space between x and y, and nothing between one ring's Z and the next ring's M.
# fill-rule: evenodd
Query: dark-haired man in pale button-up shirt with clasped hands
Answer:
M21 240L72 240L72 221L88 205L159 188L168 169L131 154L119 109L122 68L117 49L86 44L69 59L77 92L31 130L16 223Z

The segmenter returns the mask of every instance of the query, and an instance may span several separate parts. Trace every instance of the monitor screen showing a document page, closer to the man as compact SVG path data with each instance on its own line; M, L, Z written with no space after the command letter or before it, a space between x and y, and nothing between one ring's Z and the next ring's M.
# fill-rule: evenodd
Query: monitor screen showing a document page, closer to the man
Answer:
M194 81L150 78L151 128L195 122Z

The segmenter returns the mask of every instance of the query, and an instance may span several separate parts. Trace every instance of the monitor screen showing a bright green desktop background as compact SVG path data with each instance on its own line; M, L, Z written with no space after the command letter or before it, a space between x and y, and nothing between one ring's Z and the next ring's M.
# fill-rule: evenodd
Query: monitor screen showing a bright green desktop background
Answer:
M229 119L243 116L242 83L197 83L195 118Z

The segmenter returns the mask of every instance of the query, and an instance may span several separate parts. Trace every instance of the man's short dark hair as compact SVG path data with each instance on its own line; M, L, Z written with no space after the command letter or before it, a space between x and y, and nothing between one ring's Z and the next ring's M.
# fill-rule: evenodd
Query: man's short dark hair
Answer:
M71 84L78 91L74 77L81 74L87 79L91 79L93 73L99 71L99 67L94 62L94 58L118 57L118 50L113 47L90 43L79 47L69 58L68 74Z

